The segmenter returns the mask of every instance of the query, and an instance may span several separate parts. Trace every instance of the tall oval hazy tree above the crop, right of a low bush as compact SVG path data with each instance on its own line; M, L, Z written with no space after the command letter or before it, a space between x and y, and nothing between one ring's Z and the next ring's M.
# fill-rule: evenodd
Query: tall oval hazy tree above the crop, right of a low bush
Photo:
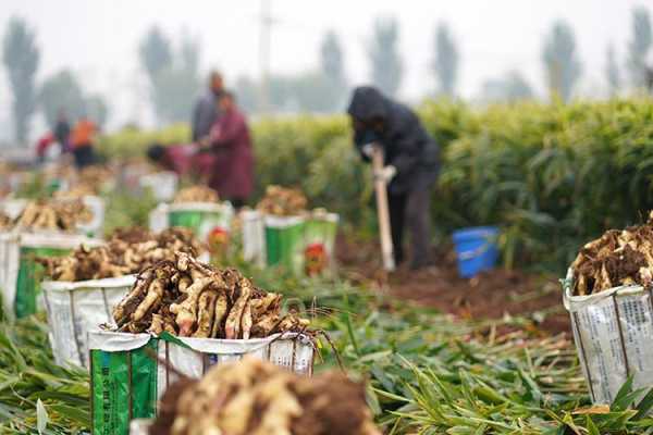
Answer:
M571 26L564 22L554 23L542 53L546 83L552 95L569 101L574 86L580 77L581 65L576 52L576 37Z

